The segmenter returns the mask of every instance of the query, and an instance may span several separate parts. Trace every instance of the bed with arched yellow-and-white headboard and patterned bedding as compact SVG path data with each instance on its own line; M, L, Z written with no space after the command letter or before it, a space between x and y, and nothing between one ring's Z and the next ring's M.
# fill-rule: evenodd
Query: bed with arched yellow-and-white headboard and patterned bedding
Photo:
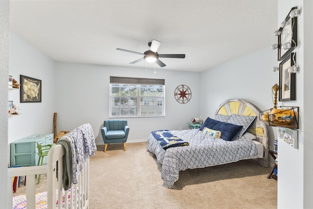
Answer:
M203 168L225 163L238 162L246 159L256 159L264 167L268 166L268 133L264 123L259 119L259 109L242 99L228 99L216 110L215 118L208 117L202 130L159 130L152 132L147 139L147 151L156 155L158 163L162 164L161 178L165 186L172 187L179 179L179 171L193 168ZM244 118L244 119L243 119ZM253 119L254 118L254 119ZM253 120L252 120L253 119ZM248 122L247 122L248 121ZM239 135L232 140L227 138L228 130L221 128L220 139L203 132L210 122L230 125L238 129L243 125ZM245 124L242 124L245 123ZM226 126L228 128L228 126ZM232 127L231 127L232 128ZM209 129L212 133L219 130ZM210 133L211 133L210 132ZM156 134L171 134L171 139L181 140L186 145L162 148ZM225 134L223 136L223 133ZM182 144L183 144L182 143Z

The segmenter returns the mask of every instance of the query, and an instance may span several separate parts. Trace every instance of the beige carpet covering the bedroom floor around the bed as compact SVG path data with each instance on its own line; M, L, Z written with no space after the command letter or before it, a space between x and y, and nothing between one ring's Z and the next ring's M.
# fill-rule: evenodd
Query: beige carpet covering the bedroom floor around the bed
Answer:
M253 160L179 172L163 185L161 165L146 143L98 146L90 158L90 209L276 209L277 182ZM40 186L44 186L42 177ZM19 189L19 193L22 189Z

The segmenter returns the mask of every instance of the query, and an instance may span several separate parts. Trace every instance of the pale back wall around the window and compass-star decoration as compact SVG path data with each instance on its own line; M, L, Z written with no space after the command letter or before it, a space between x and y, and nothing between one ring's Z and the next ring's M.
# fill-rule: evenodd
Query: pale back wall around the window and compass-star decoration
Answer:
M166 117L126 118L130 126L127 142L145 141L152 130L187 129L191 118L200 112L200 73L57 63L57 124L58 131L72 130L90 123L97 144L104 144L100 129L109 119L110 76L165 79ZM180 84L187 85L192 92L186 104L178 103L174 90Z

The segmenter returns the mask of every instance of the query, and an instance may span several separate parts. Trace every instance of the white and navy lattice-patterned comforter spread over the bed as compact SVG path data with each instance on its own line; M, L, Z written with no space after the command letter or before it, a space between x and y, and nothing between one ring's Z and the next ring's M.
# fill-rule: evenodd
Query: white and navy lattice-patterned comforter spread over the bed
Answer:
M152 134L147 140L147 151L154 153L162 164L161 177L168 187L179 179L180 170L237 162L258 155L255 143L245 137L225 141L204 135L199 129L170 132L189 145L164 150Z

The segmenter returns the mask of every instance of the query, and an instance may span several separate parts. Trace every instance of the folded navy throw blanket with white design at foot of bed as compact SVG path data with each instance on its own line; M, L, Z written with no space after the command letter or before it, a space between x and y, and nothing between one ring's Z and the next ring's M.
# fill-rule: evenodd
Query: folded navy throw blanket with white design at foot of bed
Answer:
M189 145L189 142L173 136L168 130L152 131L151 133L163 149Z

